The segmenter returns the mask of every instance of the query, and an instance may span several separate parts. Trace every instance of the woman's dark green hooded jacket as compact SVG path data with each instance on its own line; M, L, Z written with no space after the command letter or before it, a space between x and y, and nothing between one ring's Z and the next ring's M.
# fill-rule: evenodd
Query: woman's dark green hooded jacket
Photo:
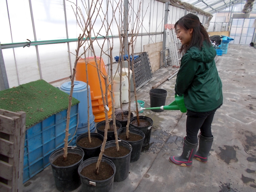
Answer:
M215 65L216 50L203 42L202 49L193 46L181 59L175 92L184 94L187 109L208 112L222 104L222 83Z

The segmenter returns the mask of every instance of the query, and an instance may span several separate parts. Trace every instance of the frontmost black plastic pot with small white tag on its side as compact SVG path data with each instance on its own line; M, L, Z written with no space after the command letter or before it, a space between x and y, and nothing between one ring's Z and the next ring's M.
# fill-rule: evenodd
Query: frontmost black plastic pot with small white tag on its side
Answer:
M84 177L81 175L81 171L84 167L90 165L91 163L95 163L98 161L98 157L93 157L85 160L78 168L78 173L82 182L82 191L83 192L112 192L114 175L116 173L116 167L112 161L107 158L102 157L101 162L108 163L114 170L114 174L106 180L96 181L92 180L88 177ZM100 171L100 170L99 170Z

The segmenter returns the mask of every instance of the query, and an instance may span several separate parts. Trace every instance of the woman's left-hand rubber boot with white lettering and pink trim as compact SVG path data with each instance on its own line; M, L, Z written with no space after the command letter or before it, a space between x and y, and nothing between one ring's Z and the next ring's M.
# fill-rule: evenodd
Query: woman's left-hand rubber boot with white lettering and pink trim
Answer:
M183 140L183 151L180 157L177 156L171 156L169 157L170 162L184 166L184 167L191 167L192 165L192 159L194 154L196 153L198 143L192 144L189 143L186 138Z

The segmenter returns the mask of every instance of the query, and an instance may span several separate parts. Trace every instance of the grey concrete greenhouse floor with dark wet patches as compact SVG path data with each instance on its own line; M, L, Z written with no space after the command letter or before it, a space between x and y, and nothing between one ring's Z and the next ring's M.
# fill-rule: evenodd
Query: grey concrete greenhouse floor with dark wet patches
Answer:
M169 162L182 153L186 114L179 111L140 113L153 119L150 148L130 163L129 177L115 182L113 192L255 192L256 191L256 49L230 45L219 56L217 68L223 83L223 105L212 123L214 142L206 164L194 160L191 168ZM154 72L137 91L150 107L149 90L172 67ZM176 78L158 88L168 91L166 105L174 100ZM132 102L134 97L132 98ZM124 108L127 106L124 106ZM57 192L50 166L24 184L23 192ZM74 192L82 192L81 186Z

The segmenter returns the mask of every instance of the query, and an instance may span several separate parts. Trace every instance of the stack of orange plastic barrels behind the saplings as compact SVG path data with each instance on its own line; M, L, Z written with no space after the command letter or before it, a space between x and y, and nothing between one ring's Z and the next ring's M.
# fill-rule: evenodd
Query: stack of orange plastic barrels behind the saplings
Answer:
M102 84L102 90L105 99L105 80L102 75L107 76L105 62L102 58L96 57L97 63L100 69L100 79ZM104 106L102 101L101 89L99 85L99 78L98 72L96 68L96 63L94 57L87 57L86 62L88 62L87 69L88 69L88 84L90 85L90 92L91 92L91 104L93 108L93 114L95 116L95 122L105 120L105 113L104 113ZM76 80L87 82L86 78L86 62L84 59L79 59L76 65ZM111 87L109 87L111 89ZM108 117L112 116L112 99L110 93L108 91Z

